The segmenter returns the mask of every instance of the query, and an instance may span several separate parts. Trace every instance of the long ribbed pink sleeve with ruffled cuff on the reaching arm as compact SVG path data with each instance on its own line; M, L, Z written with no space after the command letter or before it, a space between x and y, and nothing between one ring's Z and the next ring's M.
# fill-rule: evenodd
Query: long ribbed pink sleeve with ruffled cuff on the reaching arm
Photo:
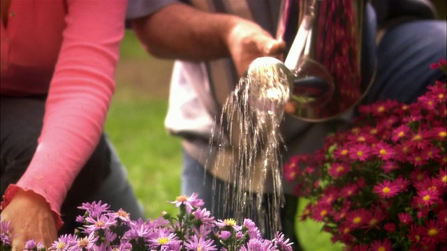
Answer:
M64 42L50 84L43 129L27 172L5 193L2 206L17 187L47 199L56 213L75 177L98 144L110 99L115 66L124 35L126 0L66 0ZM86 184L88 185L88 184Z

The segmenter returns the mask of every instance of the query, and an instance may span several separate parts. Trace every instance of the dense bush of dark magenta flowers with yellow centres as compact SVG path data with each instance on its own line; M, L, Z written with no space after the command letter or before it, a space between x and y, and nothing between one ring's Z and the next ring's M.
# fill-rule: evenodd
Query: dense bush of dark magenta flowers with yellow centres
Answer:
M446 73L446 61L432 64ZM353 127L284 165L301 215L347 250L447 250L446 82L418 101L360 106Z

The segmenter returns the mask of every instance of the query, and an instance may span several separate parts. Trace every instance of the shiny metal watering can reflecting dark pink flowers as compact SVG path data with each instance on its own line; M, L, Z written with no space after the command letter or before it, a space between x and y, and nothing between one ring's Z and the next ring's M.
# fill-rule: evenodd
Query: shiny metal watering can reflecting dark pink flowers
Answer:
M289 85L287 114L305 121L332 119L358 104L374 79L375 29L365 20L367 1L283 1L279 36L291 8L298 8L299 25L286 60L256 59L247 77L272 86L274 73Z

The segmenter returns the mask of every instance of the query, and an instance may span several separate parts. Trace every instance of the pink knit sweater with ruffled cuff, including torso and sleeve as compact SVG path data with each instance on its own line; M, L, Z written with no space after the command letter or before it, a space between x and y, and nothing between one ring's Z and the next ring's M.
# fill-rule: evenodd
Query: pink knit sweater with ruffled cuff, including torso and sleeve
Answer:
M1 22L1 95L48 96L34 158L2 207L18 188L32 190L63 224L61 204L98 143L115 91L126 3L11 1L7 26Z

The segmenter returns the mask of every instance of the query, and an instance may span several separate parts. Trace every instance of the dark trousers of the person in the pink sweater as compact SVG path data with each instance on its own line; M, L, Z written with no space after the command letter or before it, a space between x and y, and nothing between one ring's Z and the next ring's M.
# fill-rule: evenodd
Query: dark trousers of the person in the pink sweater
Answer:
M1 96L0 100L0 177L3 195L8 185L17 183L33 158L43 123L45 97ZM76 216L84 213L78 206L99 200L109 204L112 210L123 208L131 213L133 219L144 218L126 169L105 134L68 190L61 206L65 224L59 234L73 234L78 227Z

